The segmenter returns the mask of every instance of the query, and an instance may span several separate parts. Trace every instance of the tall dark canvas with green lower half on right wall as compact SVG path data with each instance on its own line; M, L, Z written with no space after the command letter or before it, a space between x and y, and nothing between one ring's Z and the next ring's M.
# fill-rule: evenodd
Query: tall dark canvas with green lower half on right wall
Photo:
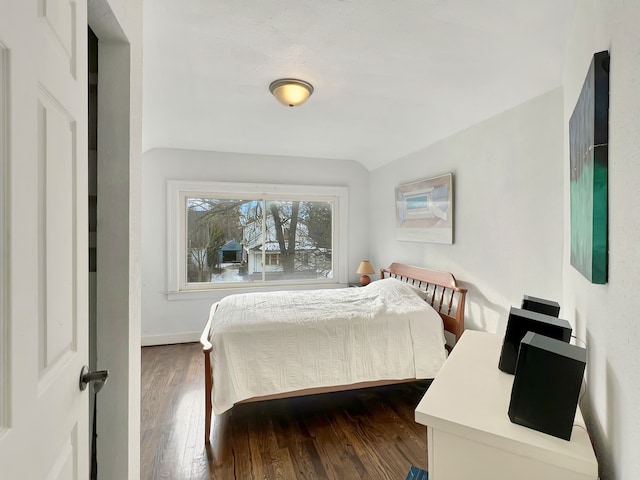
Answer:
M593 56L569 120L571 265L607 282L609 52Z

